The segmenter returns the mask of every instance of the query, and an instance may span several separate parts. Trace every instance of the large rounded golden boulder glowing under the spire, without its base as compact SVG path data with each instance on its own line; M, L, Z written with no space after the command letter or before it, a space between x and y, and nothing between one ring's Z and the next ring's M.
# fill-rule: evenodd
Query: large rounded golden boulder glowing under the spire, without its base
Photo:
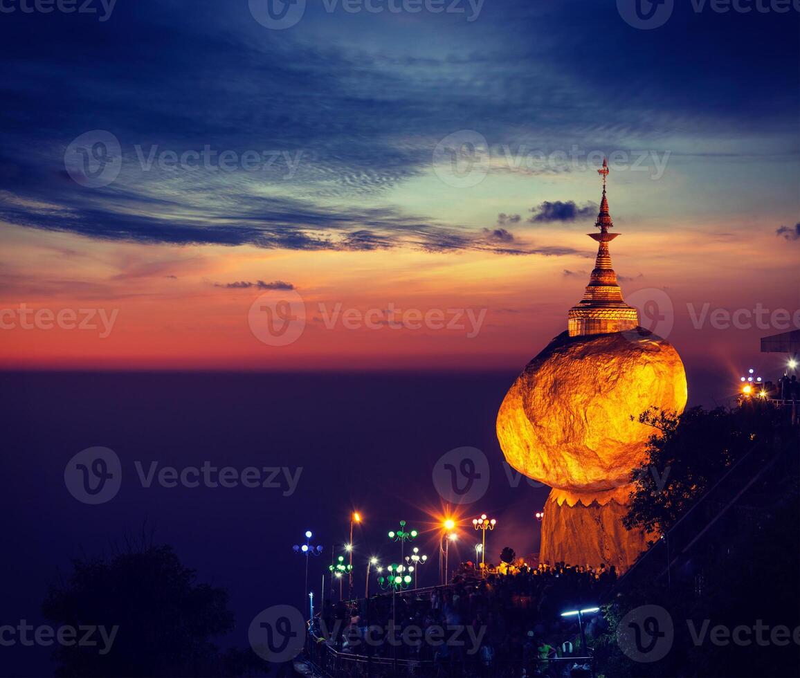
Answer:
M506 461L534 480L581 493L613 489L645 458L654 431L638 416L651 405L686 405L686 373L668 341L642 328L565 332L506 393L498 440Z

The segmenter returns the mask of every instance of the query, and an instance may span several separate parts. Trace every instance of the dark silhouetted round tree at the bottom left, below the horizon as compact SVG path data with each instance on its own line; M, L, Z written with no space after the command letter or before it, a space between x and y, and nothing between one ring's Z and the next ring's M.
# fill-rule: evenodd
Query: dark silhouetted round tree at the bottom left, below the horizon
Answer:
M118 627L105 654L74 644L54 652L58 676L222 675L238 658L211 639L234 628L224 588L196 584L169 546L74 560L66 582L51 585L42 612L56 624Z

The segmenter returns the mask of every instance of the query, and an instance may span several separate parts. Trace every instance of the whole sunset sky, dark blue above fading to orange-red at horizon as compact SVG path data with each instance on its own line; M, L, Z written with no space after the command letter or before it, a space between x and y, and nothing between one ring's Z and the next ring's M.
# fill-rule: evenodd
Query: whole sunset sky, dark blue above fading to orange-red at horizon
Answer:
M607 156L642 324L690 370L779 368L794 9L267 2L6 0L0 367L522 368L582 296Z

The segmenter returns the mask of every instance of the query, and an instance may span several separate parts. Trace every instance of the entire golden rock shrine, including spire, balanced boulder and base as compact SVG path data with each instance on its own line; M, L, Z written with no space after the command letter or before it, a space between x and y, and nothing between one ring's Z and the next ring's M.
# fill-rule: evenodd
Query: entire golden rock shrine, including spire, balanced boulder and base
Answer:
M624 571L646 535L627 531L622 516L632 470L646 457L653 429L638 422L651 406L682 412L686 373L665 339L638 326L625 303L608 244L618 236L606 199L590 237L598 256L566 332L534 357L500 405L497 433L506 461L553 487L542 520L542 562L614 564Z

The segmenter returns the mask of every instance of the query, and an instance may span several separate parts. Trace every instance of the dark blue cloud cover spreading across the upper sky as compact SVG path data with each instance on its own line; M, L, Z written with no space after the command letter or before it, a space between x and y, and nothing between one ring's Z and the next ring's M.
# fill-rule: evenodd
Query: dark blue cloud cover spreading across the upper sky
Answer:
M142 242L560 253L376 198L430 174L436 143L465 129L545 151L772 135L796 153L797 72L784 66L796 62L800 18L690 4L676 2L657 30L594 0L486 2L474 22L309 2L286 31L259 26L246 2L215 0L118 2L106 22L5 14L0 217ZM122 172L103 189L64 171L66 147L88 130L122 146ZM138 160L137 149L204 146L278 160L230 173ZM559 209L554 218L570 218Z

